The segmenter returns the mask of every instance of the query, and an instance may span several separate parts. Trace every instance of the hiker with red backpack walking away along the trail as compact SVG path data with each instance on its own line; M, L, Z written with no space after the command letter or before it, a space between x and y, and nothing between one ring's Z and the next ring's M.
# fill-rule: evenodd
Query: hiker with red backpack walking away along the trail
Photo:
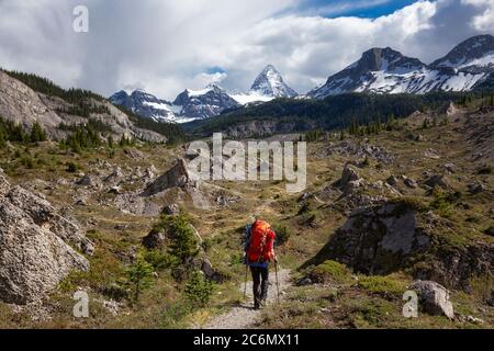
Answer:
M268 298L269 263L278 262L274 256L274 231L265 220L258 219L246 227L245 264L252 273L255 309L262 308Z

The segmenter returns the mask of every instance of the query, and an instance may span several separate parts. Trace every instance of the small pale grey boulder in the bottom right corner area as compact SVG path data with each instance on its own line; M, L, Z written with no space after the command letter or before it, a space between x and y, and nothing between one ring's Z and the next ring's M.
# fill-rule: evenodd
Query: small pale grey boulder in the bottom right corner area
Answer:
M419 296L425 313L454 319L454 309L446 287L431 281L416 281L409 288Z

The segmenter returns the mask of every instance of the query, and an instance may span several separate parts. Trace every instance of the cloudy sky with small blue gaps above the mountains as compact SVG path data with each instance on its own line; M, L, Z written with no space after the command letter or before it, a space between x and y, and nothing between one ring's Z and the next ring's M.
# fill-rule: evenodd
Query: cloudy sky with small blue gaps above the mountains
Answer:
M72 30L76 5L89 32ZM0 67L110 95L247 90L274 65L299 92L371 47L425 63L494 34L494 0L0 0Z

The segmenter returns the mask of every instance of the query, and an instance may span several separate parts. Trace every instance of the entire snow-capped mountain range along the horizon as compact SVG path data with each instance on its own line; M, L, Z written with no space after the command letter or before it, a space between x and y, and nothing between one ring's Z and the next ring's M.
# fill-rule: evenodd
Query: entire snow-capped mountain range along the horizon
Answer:
M454 47L430 65L390 48L372 48L355 64L328 78L325 84L301 98L324 99L346 92L426 93L469 91L494 84L494 36L479 35ZM272 65L257 76L247 92L232 93L217 84L203 90L187 89L171 103L142 90L120 91L110 98L139 115L184 123L216 116L227 109L262 103L277 98L296 98Z

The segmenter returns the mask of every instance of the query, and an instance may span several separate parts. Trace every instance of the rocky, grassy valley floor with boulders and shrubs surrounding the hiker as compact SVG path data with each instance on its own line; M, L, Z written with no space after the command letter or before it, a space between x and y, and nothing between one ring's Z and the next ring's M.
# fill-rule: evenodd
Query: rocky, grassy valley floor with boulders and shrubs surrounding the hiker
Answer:
M369 133L272 136L310 139L299 194L195 181L187 144L4 143L0 327L492 328L493 121L478 100ZM242 242L254 217L280 237L283 295L272 285L251 314ZM89 318L72 315L78 291Z

